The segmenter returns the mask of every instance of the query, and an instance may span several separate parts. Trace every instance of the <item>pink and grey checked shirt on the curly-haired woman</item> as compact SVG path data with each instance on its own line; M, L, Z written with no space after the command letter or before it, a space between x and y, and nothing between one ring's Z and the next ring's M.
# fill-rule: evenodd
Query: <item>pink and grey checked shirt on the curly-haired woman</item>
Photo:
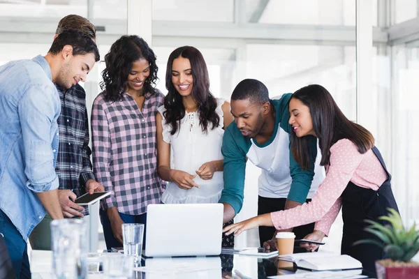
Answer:
M94 174L113 195L102 199L103 209L117 206L121 213L140 215L148 204L160 202L163 181L157 174L156 113L164 95L146 93L142 110L124 93L117 102L103 92L91 110Z

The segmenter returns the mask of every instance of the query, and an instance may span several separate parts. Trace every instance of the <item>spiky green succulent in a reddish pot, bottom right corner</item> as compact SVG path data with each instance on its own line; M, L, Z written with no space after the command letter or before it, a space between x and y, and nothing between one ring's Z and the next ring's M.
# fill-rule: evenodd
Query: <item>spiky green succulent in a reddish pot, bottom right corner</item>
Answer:
M419 278L419 262L411 259L419 251L419 230L416 224L410 229L403 225L402 218L395 209L388 209L388 216L381 216L380 220L388 221L391 225L381 225L373 220L365 220L370 225L365 229L378 237L374 239L362 239L360 243L372 243L383 248L388 259L376 261L378 279L408 279Z

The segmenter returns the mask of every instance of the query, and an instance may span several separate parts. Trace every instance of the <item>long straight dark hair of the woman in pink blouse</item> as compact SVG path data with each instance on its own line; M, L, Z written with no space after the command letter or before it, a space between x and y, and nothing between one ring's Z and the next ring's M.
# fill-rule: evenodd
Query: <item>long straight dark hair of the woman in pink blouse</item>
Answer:
M321 149L320 165L330 164L330 147L338 140L348 139L363 154L374 146L374 137L364 127L353 123L341 112L332 95L323 86L311 84L293 93L291 99L300 100L310 109L314 133ZM307 169L311 154L308 137L297 137L291 129L291 151L300 166Z

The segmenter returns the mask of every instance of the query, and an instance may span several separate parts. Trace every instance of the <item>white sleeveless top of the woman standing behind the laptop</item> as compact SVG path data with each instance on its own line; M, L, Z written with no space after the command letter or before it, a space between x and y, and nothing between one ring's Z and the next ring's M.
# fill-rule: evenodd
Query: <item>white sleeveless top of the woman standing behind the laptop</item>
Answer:
M223 190L223 172L214 172L210 180L201 179L196 171L204 163L213 160L223 160L221 144L223 143L223 110L221 105L225 100L217 98L216 114L219 115L219 126L212 129L212 123L207 126L207 132L203 132L199 124L198 112L186 112L180 121L180 128L175 135L170 135L171 126L166 123L163 112L164 106L159 107L163 117L163 140L170 144L170 168L182 170L196 175L195 181L200 188L193 187L184 190L170 181L166 191L161 196L165 204L203 204L219 202Z

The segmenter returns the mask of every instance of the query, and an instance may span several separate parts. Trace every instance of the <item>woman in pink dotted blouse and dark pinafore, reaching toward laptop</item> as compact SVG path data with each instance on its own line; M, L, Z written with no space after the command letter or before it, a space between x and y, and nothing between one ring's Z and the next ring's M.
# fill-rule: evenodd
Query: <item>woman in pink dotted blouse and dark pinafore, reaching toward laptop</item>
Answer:
M349 121L339 110L330 93L317 84L305 86L293 93L289 103L291 149L302 168L309 164L310 150L307 136L319 140L321 165L326 177L308 204L293 209L256 216L223 229L235 235L258 226L288 229L316 222L314 232L306 239L321 241L328 236L330 227L342 208L344 232L341 253L362 262L366 271L375 273L374 262L385 257L383 249L370 245L353 245L360 239L376 239L365 232L366 219L378 220L387 215L387 209L398 211L380 152L374 146L374 137L362 126ZM317 246L306 245L307 250Z

